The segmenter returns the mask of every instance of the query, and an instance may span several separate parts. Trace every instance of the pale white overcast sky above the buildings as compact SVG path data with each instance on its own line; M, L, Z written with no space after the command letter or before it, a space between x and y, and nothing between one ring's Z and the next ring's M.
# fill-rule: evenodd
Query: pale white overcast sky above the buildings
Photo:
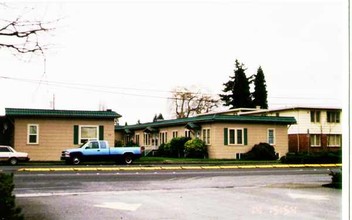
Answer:
M4 108L99 110L121 123L172 118L175 87L219 94L238 59L262 67L270 108L342 107L347 0L56 1L8 3L2 19L53 20L42 56L0 49ZM33 9L29 9L33 8ZM1 38L0 38L1 40ZM4 78L9 77L9 78Z

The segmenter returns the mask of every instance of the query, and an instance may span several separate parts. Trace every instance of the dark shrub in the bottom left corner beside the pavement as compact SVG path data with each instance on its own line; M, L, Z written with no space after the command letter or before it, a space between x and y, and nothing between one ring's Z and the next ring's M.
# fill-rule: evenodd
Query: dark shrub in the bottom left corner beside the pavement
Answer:
M12 195L13 189L13 174L0 173L0 219L23 219Z

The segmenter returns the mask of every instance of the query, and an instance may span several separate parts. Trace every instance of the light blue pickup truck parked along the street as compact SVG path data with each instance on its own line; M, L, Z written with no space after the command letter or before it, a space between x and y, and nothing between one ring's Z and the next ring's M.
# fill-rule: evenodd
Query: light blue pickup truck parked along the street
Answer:
M132 164L141 157L140 147L109 147L107 141L90 140L79 148L62 151L61 160L78 165L83 161L116 161Z

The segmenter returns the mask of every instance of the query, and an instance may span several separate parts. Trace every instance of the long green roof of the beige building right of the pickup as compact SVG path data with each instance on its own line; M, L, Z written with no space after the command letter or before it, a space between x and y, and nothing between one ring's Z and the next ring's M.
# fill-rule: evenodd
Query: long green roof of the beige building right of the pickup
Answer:
M214 123L214 122L246 123L246 124L287 124L288 125L288 124L295 124L296 119L294 117L210 114L210 115L200 115L200 116L195 116L190 118L163 120L163 121L127 125L127 126L116 126L115 130L121 130L125 128L136 130L136 129L145 129L147 127L156 128L156 127L187 125L187 123L201 124L201 123Z

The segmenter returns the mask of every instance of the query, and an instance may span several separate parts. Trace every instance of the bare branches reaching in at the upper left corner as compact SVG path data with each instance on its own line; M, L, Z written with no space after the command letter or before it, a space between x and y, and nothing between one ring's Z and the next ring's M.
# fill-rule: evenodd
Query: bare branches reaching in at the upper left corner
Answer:
M1 4L3 9L11 10L7 5ZM53 30L55 21L40 21L24 18L19 15L15 19L0 19L0 50L7 48L18 54L41 54L48 49L41 37L44 33Z

